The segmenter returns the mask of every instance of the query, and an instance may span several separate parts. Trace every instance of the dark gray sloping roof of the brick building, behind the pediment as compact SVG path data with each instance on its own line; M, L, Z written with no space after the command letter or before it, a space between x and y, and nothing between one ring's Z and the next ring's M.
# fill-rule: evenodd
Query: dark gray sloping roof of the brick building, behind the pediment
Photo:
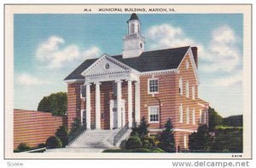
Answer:
M177 68L188 49L189 46L174 49L145 51L138 57L125 59L123 59L122 55L114 55L112 57L120 62L123 62L125 65L136 69L138 72L150 72ZM81 73L90 67L90 65L93 64L97 59L98 58L84 61L64 80L84 78Z

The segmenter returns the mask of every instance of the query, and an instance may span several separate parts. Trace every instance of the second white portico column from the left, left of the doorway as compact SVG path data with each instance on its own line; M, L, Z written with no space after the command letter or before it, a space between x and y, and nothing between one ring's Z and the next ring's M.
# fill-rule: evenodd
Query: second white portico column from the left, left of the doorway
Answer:
M99 82L96 83L96 129L101 129L101 90Z

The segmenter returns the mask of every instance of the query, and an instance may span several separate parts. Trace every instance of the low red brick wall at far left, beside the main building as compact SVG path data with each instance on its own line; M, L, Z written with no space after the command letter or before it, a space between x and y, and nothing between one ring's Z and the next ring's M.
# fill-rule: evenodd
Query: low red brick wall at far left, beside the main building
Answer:
M30 147L45 143L49 136L55 135L60 125L67 125L66 116L52 116L51 113L14 110L14 148L21 142Z

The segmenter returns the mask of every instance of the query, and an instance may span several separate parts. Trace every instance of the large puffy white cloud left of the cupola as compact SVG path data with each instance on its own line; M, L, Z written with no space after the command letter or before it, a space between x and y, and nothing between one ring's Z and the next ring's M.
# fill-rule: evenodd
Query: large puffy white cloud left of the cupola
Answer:
M38 60L47 63L48 68L53 69L63 67L65 63L72 61L96 58L100 51L101 49L96 46L81 51L75 44L65 45L63 38L51 36L38 46L36 56Z

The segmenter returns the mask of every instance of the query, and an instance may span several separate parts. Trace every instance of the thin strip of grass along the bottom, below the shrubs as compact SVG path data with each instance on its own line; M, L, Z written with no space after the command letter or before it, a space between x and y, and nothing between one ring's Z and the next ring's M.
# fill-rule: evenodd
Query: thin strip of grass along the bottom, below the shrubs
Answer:
M148 148L135 148L135 149L106 149L102 153L166 153L160 148L148 149Z

